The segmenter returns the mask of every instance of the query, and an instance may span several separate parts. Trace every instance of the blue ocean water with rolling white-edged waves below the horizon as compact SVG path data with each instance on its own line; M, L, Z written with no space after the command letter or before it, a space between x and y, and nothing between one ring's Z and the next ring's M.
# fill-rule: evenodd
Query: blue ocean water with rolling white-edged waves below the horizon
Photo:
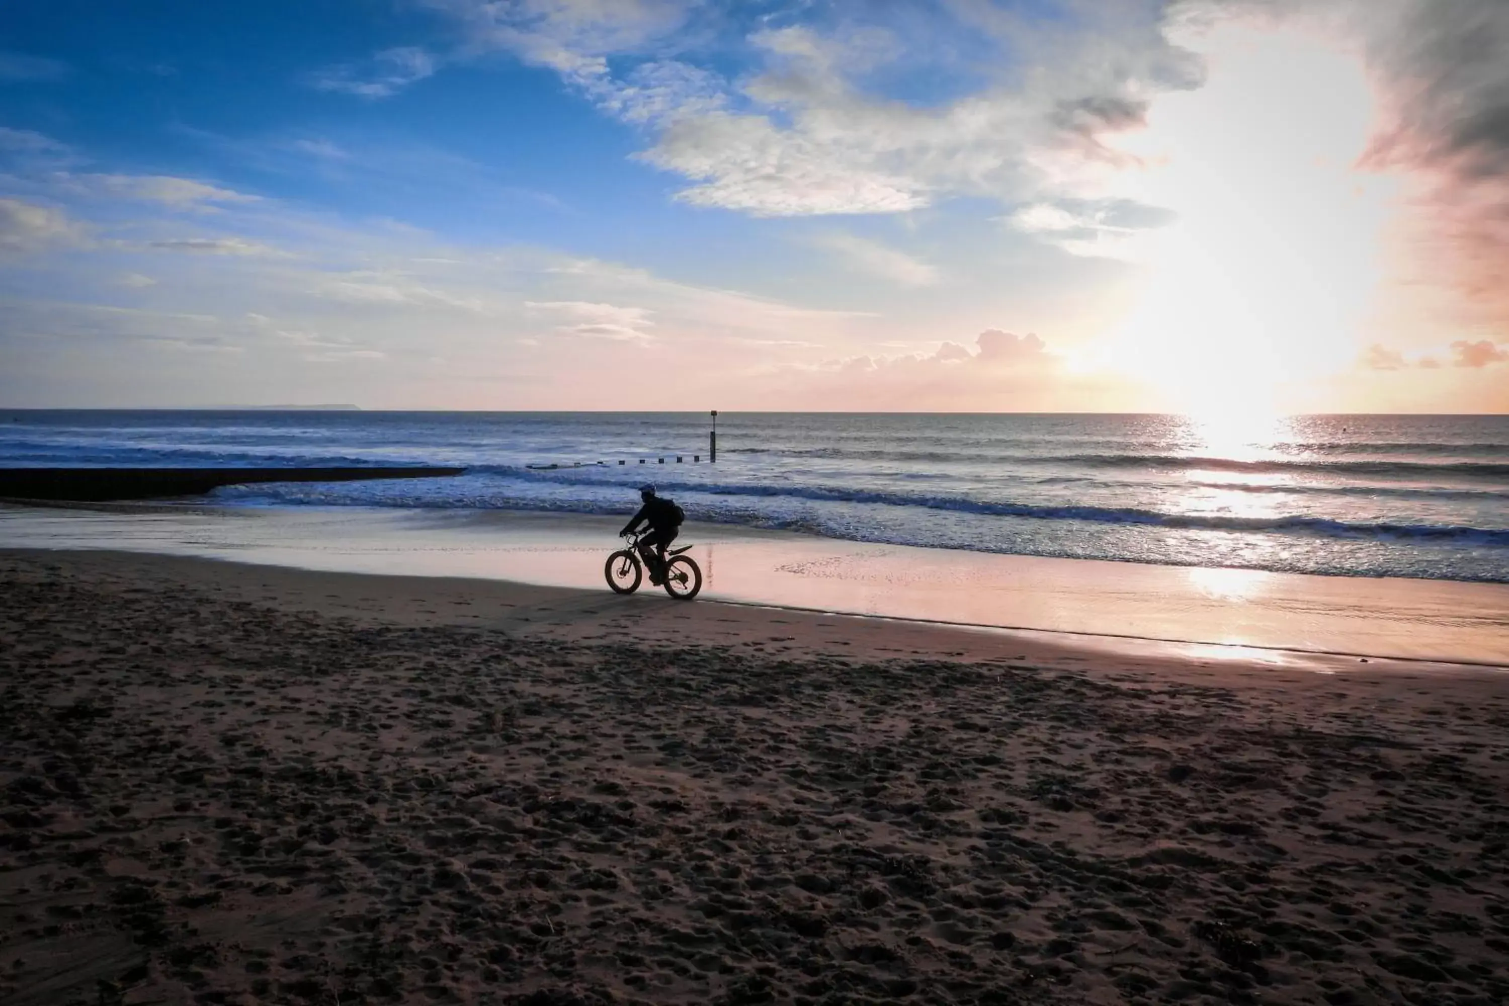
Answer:
M626 514L652 481L694 520L857 541L1509 582L1509 416L724 413L717 465L709 422L0 412L0 465L460 465L459 478L226 487L216 499Z

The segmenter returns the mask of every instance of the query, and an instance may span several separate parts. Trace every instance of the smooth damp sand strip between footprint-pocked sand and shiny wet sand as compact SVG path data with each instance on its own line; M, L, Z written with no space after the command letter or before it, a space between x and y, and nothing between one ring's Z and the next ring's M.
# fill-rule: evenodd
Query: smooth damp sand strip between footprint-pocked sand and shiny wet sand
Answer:
M1007 650L1028 650L1034 659L1070 662L1118 659L1130 667L1159 667L1195 677L1215 674L1295 671L1304 676L1431 674L1509 676L1509 662L1441 658L1399 658L1375 653L1340 653L1239 643L1165 639L1112 632L1071 632L1022 626L994 626L934 618L860 614L767 602L699 597L678 602L659 591L614 596L604 590L551 587L492 578L416 576L311 570L296 566L247 563L237 558L166 555L109 549L0 547L0 563L51 567L68 576L115 579L122 584L190 587L243 603L270 603L288 612L356 621L401 623L423 627L469 627L549 638L599 638L607 629L629 624L634 644L717 646L727 632L758 632L782 624L830 629L824 646L853 647L866 659L913 658L997 659ZM489 608L489 605L492 608ZM483 608L477 615L456 608ZM700 611L706 608L708 611ZM507 611L506 609L515 609ZM736 626L724 630L711 627ZM794 630L794 629L788 629ZM886 644L869 646L868 636ZM901 635L907 647L889 646ZM1022 659L1026 659L1025 656ZM1204 671L1192 668L1219 668Z

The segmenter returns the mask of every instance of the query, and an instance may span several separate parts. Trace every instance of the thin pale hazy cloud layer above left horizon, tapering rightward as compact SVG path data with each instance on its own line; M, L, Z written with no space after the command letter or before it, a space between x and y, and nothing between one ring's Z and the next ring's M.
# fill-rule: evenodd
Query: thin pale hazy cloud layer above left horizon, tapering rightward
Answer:
M213 204L219 226L186 229L172 199L119 202L142 193L136 182L56 172L6 181L47 196L3 204L8 252L45 247L72 226L91 238L8 278L35 297L0 296L0 400L17 404L151 406L216 388L220 401L631 407L623 374L643 365L714 404L735 394L753 404L751 373L831 354L874 324L863 312L539 247L451 244L273 198ZM95 339L88 367L69 362L83 338Z

